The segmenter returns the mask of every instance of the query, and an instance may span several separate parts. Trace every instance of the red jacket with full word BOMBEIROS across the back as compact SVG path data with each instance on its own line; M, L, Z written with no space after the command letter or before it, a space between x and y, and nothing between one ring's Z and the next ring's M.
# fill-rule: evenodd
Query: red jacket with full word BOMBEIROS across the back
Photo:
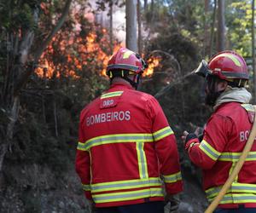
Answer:
M153 96L114 83L80 115L76 170L96 207L163 200L182 191L177 144Z

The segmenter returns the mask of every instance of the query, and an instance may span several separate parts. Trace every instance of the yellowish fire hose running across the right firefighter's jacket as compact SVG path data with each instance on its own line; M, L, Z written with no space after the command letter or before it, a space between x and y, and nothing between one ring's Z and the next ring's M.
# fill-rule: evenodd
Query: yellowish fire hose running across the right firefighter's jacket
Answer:
M253 106L253 107L254 107L254 112L256 112L256 106ZM248 153L250 152L251 148L253 147L253 141L256 137L256 118L255 117L256 117L256 114L254 114L253 127L252 127L251 133L249 135L249 138L247 140L247 144L244 147L244 149L241 153L241 156L240 156L239 160L236 163L236 166L235 166L234 170L230 174L227 181L224 183L224 186L222 187L222 189L220 190L218 195L215 197L215 199L213 199L212 203L208 206L205 213L212 213L213 210L216 209L216 207L220 203L221 199L223 199L225 193L228 191L228 189L232 185L232 182L235 180L236 176L238 175L239 171L241 170L241 167L244 164Z

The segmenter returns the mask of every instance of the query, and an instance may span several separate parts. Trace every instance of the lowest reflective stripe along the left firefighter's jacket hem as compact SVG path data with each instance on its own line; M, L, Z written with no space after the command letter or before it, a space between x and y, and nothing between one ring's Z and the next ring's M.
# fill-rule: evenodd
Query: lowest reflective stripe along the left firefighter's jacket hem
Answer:
M130 192L93 194L96 204L164 196L162 188L149 188Z

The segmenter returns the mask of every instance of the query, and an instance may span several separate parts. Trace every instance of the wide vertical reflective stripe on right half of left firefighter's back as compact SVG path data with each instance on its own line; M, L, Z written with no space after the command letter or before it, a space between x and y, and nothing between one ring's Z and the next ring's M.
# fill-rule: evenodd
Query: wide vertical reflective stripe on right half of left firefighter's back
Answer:
M137 163L138 163L140 178L146 179L148 178L148 164L147 164L147 159L144 152L144 143L137 142L136 149L137 149Z

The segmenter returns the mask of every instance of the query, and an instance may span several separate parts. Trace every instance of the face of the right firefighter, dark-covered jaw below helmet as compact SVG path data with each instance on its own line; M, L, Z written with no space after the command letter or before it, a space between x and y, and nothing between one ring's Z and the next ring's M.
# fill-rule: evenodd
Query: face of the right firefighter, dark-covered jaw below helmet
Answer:
M209 75L207 77L207 86L205 89L206 98L205 103L213 107L215 105L218 96L224 92L227 88L228 83L224 80L219 79L218 77Z

